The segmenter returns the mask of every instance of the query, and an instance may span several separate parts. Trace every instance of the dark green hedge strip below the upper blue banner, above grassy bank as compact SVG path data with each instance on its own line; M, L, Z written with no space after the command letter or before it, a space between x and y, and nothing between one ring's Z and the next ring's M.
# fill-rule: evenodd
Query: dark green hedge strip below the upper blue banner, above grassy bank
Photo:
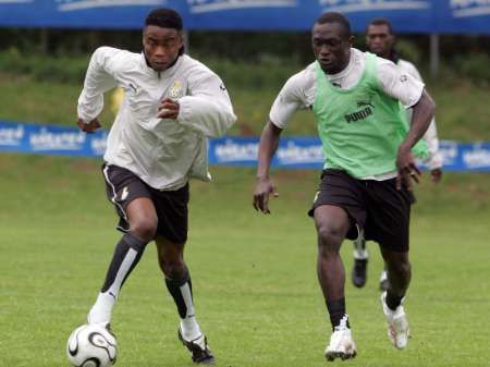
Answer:
M417 63L420 53L413 44L400 42L399 46L405 58ZM254 61L236 61L217 56L200 57L198 53L193 57L217 72L229 86L240 86L252 90L278 89L287 77L305 66L297 58L279 58L271 54L258 54ZM28 75L36 81L82 83L88 60L89 54L45 56L36 52L25 54L16 48L11 48L0 52L0 72ZM443 64L443 69L450 74L450 78L463 76L478 85L487 86L490 84L489 65L490 57L487 53L475 52L455 58L450 64Z

